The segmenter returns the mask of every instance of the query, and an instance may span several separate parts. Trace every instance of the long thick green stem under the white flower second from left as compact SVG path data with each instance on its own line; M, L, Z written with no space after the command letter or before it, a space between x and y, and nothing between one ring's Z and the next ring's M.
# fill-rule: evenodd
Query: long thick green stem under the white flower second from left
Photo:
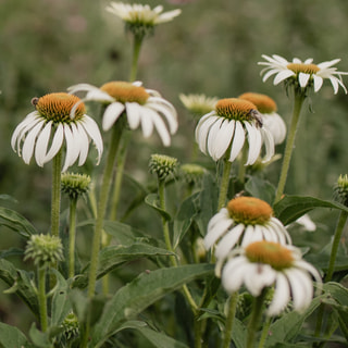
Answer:
M123 119L123 116L122 116ZM92 298L96 289L97 281L97 268L98 268L98 254L101 243L101 233L103 227L103 219L105 216L109 190L112 179L112 172L116 158L116 152L120 144L121 134L123 130L123 120L119 120L112 127L111 141L109 147L108 159L104 167L102 184L100 188L99 204L97 210L97 219L95 226L95 234L92 239L91 258L89 265L89 277L88 277L88 298Z

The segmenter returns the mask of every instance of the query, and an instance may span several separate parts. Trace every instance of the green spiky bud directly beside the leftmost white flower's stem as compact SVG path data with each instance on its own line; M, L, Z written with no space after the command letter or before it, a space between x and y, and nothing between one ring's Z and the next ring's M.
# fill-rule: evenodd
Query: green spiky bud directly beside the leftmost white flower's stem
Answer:
M62 191L66 194L70 199L77 199L85 195L90 185L90 176L86 174L63 173L61 175Z

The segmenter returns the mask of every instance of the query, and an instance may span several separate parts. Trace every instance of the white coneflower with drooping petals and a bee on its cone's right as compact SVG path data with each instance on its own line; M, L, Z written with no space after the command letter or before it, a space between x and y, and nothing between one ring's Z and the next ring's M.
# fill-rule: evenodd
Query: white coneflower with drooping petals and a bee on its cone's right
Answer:
M250 101L227 98L220 99L215 109L203 115L196 127L196 141L203 153L214 161L228 156L233 162L248 139L248 159L251 165L258 159L262 142L265 145L264 161L274 154L274 140L271 133L262 127L260 113Z

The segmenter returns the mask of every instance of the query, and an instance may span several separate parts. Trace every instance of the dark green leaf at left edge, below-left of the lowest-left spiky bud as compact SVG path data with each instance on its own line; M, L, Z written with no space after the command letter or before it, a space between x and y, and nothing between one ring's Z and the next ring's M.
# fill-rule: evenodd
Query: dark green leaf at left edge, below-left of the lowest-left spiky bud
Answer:
M7 293L16 294L37 316L39 315L36 288L26 271L17 270L11 262L0 259L0 278L11 286Z

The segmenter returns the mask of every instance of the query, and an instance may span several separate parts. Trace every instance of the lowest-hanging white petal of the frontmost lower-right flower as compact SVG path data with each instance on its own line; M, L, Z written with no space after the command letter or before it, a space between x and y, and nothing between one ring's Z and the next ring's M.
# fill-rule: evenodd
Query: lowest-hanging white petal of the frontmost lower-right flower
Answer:
M290 288L286 276L278 272L272 302L268 309L268 315L278 315L290 300Z

